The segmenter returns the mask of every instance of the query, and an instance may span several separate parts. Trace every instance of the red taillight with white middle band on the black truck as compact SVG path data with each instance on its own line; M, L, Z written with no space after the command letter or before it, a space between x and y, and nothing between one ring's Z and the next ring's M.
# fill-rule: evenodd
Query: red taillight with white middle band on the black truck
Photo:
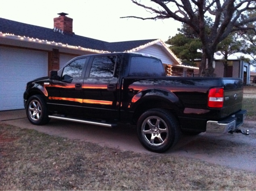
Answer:
M224 88L214 87L209 90L208 94L208 107L222 108L224 102Z

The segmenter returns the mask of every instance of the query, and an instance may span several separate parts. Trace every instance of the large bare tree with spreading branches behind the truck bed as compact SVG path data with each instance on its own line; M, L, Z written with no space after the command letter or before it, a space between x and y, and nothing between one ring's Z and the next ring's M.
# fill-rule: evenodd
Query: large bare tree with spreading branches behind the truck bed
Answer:
M255 0L151 0L155 6L147 6L149 0L131 0L152 13L152 17L128 16L121 18L169 19L172 18L191 27L202 43L200 76L212 77L212 62L217 45L231 32L253 29L248 23L256 16L247 17L248 11L256 10ZM208 17L212 23L206 23ZM208 62L206 62L208 59ZM208 63L208 64L206 64Z

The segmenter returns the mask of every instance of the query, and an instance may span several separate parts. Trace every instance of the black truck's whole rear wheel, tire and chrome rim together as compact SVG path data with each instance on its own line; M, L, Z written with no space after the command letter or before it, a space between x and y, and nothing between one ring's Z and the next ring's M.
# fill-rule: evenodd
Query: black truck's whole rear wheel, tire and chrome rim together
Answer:
M138 119L137 134L146 149L161 153L178 142L180 127L176 118L167 110L152 109Z

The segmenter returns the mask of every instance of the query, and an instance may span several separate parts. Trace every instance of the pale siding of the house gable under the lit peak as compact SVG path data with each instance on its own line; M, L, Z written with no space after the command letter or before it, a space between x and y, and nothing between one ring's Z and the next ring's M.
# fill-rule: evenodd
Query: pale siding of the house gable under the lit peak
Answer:
M174 62L172 61L170 56L168 56L168 54L166 54L162 48L164 48L164 47L161 47L159 45L152 45L152 46L149 46L142 50L139 50L137 52L155 56L155 57L161 59L164 64L174 64Z

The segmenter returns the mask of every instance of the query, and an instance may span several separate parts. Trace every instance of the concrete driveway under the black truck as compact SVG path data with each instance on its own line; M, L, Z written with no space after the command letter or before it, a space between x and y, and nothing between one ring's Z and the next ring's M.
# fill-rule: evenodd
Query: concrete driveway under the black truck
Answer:
M88 141L121 150L151 153L139 143L136 127L130 125L109 128L51 119L47 125L36 126L27 120L25 110L1 111L0 121L25 129L35 129L49 135ZM256 122L246 121L242 128L249 129L250 135L237 133L184 135L173 149L164 154L195 158L212 164L255 172Z

